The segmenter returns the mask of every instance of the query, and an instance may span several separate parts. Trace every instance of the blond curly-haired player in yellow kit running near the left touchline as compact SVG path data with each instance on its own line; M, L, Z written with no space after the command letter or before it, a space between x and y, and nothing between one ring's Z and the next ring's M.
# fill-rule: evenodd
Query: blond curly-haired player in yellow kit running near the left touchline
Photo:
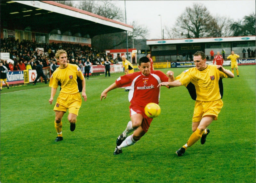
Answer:
M60 66L52 73L49 86L52 87L51 98L49 103L52 104L53 97L58 88L58 82L61 83L60 94L54 106L55 111L55 129L58 137L55 142L62 141L62 117L68 109L68 121L70 122L70 131L76 128L76 117L82 105L81 95L78 90L77 78L82 80L82 96L84 101L87 100L85 94L85 79L80 68L75 64L67 63L67 52L65 50L58 50L55 54Z

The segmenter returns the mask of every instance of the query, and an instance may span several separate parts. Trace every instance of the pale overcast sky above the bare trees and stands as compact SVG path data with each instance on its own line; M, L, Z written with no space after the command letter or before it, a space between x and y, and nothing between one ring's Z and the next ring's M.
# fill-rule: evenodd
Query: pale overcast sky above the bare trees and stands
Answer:
M148 27L147 39L161 39L161 18L162 29L164 26L173 27L176 19L185 11L185 8L192 7L193 3L203 4L212 16L225 16L237 21L245 15L255 12L255 0L208 0L208 1L171 1L151 0L133 1L126 0L127 24L134 20L140 25ZM115 4L124 9L124 1L115 1ZM158 15L161 15L158 16Z

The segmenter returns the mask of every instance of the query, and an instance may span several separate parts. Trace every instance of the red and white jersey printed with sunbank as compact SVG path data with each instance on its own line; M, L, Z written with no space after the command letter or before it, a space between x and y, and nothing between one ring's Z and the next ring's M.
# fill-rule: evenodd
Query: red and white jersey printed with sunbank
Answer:
M161 82L168 82L168 77L162 71L151 71L144 76L141 72L134 72L119 77L116 80L118 88L130 89L129 102L133 105L145 107L148 103L159 103Z

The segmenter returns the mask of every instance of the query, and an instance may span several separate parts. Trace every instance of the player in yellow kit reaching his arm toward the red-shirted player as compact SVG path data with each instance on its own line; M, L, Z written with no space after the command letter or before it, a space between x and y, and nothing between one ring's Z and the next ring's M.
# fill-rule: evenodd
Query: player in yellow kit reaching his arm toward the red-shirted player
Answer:
M210 133L206 127L213 120L217 120L223 106L221 100L223 95L222 78L234 78L234 74L221 65L206 65L206 57L202 51L197 51L194 54L194 62L196 67L184 71L176 77L175 81L163 82L158 85L158 87L184 85L188 88L192 99L196 100L192 118L193 133L188 142L176 151L178 156L182 156L188 147L200 138L201 144L205 143L206 135Z

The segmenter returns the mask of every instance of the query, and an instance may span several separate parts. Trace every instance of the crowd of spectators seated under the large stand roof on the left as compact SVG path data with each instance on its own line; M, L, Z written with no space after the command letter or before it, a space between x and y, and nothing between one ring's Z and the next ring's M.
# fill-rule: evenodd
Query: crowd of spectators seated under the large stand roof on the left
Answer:
M44 51L41 51L41 48ZM14 60L14 63L3 61L3 64L10 71L26 70L28 64L31 65L32 69L35 69L40 62L43 62L44 67L50 67L53 61L57 61L54 52L59 49L67 51L69 63L80 67L84 65L87 59L90 60L92 65L102 65L107 58L104 51L99 51L86 45L82 46L81 44L65 42L36 43L28 40L19 42L19 40L12 38L1 39L1 52L10 53L10 59ZM113 64L119 61L117 59L114 60L111 55L108 56L108 59ZM58 67L57 62L56 66Z

